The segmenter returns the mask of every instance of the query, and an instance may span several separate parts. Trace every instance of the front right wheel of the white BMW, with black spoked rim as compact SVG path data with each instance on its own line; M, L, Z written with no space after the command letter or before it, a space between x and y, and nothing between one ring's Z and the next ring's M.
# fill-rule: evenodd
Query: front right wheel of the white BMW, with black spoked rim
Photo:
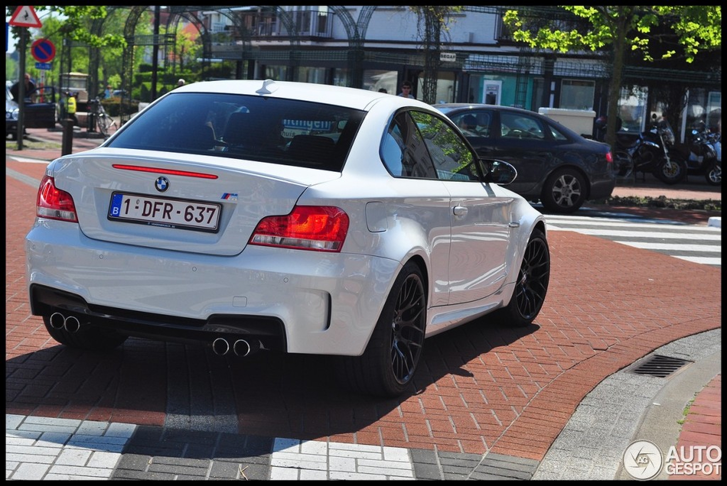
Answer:
M533 230L523 254L513 297L502 309L493 312L499 323L513 328L529 325L542 309L550 283L550 249L545 234Z

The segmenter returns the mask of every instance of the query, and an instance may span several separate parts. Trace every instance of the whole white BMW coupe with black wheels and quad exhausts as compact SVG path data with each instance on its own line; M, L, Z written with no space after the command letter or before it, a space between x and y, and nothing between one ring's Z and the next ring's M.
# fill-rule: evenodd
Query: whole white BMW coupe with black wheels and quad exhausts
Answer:
M542 308L545 220L502 187L515 177L417 100L188 84L49 163L25 242L31 309L70 347L331 355L343 384L393 397L428 336Z

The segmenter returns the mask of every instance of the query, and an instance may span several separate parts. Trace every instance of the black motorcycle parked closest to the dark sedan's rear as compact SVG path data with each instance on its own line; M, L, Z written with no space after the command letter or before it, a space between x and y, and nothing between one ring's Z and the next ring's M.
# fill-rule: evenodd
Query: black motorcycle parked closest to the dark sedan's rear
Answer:
M664 184L677 184L686 178L687 162L683 153L674 150L674 131L666 119L656 121L638 135L616 134L614 172L616 177L651 171Z

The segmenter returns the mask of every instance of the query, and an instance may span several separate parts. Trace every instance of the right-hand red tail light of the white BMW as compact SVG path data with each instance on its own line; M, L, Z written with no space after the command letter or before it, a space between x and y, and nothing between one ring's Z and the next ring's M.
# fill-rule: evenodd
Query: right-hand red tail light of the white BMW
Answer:
M295 206L286 216L263 218L249 244L313 251L341 251L348 214L334 206Z

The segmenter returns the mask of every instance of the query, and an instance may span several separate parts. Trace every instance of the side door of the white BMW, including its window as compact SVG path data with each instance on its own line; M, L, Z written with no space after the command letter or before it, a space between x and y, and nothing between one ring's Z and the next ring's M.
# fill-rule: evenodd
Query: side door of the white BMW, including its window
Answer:
M449 304L477 301L507 276L510 214L515 199L482 182L478 156L438 116L413 111L438 179L450 195Z

